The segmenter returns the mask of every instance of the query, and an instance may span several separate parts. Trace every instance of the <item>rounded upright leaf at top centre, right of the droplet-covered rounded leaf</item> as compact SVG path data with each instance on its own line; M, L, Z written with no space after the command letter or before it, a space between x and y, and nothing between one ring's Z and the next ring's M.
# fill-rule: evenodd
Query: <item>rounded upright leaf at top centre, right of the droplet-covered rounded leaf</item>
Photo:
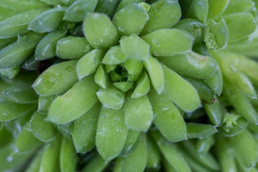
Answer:
M122 36L130 36L133 33L138 35L148 17L147 12L140 4L133 3L119 10L113 18L113 23Z

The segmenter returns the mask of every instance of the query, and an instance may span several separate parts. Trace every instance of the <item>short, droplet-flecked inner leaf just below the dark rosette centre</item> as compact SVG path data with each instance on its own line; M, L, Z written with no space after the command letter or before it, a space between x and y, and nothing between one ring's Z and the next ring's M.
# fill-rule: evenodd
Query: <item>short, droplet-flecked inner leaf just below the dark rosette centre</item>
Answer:
M108 86L106 89L100 88L97 92L99 101L106 108L118 110L123 106L124 93L115 86Z

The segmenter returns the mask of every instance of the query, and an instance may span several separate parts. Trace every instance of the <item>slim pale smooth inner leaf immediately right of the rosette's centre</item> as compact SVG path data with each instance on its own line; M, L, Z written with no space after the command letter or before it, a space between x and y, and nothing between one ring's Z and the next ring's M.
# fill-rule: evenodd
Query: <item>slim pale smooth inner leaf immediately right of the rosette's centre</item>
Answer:
M154 57L148 57L143 61L144 67L147 69L152 86L161 94L164 90L165 78L161 64Z

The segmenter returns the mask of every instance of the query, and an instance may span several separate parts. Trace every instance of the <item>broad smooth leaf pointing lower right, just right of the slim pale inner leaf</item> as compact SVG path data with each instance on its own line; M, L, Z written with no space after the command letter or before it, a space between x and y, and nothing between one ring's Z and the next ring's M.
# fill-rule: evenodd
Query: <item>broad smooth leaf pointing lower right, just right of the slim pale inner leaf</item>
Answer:
M197 90L180 75L162 65L165 76L165 89L162 95L172 100L186 112L192 112L201 106Z

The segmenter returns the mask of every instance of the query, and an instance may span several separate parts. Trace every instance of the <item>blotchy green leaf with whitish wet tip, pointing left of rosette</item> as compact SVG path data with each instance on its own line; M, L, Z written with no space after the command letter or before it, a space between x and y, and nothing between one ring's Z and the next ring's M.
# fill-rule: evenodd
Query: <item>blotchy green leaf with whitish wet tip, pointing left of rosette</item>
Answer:
M75 66L78 60L70 60L52 65L33 83L39 95L61 94L70 89L77 81Z

